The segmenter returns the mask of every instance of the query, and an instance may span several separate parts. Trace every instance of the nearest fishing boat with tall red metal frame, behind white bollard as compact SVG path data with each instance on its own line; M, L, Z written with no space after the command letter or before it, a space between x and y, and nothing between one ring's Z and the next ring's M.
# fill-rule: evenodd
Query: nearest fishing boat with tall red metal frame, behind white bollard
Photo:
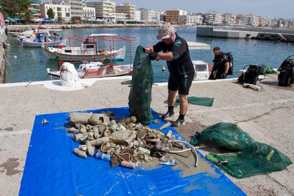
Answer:
M96 34L97 35L97 34ZM113 76L126 76L132 73L133 70L133 65L132 65L132 59L131 59L131 42L136 41L137 39L135 37L117 37L117 36L101 36L102 34L99 35L99 37L94 36L88 36L87 38L74 38L78 40L83 40L83 45L82 47L85 48L83 52L83 58L80 63L77 72L78 72L78 77L79 78L102 78L102 77L113 77ZM69 38L70 41L72 41L72 38ZM85 41L87 40L87 41ZM101 55L96 57L95 60L101 59L100 61L90 61L87 60L87 53L86 52L91 52L91 50L86 51L86 49L94 49L96 50L96 46L98 45L99 41L104 41L109 44L109 46L105 45L103 47L110 47L109 51L103 50L99 52ZM117 43L118 41L124 41L124 42L129 42L130 44L130 64L123 64L123 65L117 65L116 60L117 60L117 51L111 49ZM115 43L114 43L115 42ZM96 44L96 45L95 45ZM100 44L99 44L100 45ZM88 47L90 46L90 47ZM46 47L43 47L44 49ZM49 49L52 49L48 47ZM57 49L63 49L67 47L58 47ZM73 47L69 47L73 51ZM119 51L123 52L123 58L125 55L126 47L123 46ZM73 53L73 52L71 52ZM108 58L107 58L108 57ZM63 62L60 63L60 61L63 61L61 56L56 56L55 58L57 60L57 70L56 71L50 71L50 68L47 68L47 73L50 76L51 80L58 80L60 79L60 66L63 64ZM71 63L76 63L73 61L76 61L74 59L70 59Z

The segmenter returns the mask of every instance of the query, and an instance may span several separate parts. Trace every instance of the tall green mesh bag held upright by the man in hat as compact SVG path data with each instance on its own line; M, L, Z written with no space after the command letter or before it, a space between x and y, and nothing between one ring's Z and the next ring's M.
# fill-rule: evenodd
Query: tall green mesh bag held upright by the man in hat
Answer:
M153 84L153 69L151 60L142 46L138 46L133 63L132 84L128 105L132 116L140 123L149 124L153 120L151 113L151 89Z

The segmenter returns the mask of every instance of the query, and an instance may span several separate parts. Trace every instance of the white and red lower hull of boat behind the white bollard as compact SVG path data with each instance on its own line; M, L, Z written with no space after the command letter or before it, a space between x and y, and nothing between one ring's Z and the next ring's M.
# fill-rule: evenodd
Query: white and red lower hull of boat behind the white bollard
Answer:
M126 76L132 73L133 65L104 65L101 62L86 62L81 63L77 69L79 78L104 78L114 76ZM47 68L47 73L51 80L60 79L60 71L50 71Z

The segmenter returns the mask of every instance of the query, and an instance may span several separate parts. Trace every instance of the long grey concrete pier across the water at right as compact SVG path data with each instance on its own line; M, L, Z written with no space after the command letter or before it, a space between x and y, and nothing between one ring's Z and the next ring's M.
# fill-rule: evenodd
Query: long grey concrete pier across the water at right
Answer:
M237 29L197 27L197 36L222 38L250 38L294 42L294 31L276 29Z

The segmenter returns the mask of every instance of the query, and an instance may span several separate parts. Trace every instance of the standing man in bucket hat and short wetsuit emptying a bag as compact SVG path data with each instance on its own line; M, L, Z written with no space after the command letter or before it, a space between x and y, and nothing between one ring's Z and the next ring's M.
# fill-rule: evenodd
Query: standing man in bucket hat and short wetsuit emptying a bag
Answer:
M168 111L161 118L166 119L174 116L176 93L180 98L180 115L171 124L172 127L183 125L184 117L188 110L187 97L191 87L195 70L190 58L187 42L178 36L176 29L170 23L158 28L157 40L161 40L154 46L144 48L151 60L164 60L167 63L170 76L168 78ZM163 53L158 53L163 51Z

